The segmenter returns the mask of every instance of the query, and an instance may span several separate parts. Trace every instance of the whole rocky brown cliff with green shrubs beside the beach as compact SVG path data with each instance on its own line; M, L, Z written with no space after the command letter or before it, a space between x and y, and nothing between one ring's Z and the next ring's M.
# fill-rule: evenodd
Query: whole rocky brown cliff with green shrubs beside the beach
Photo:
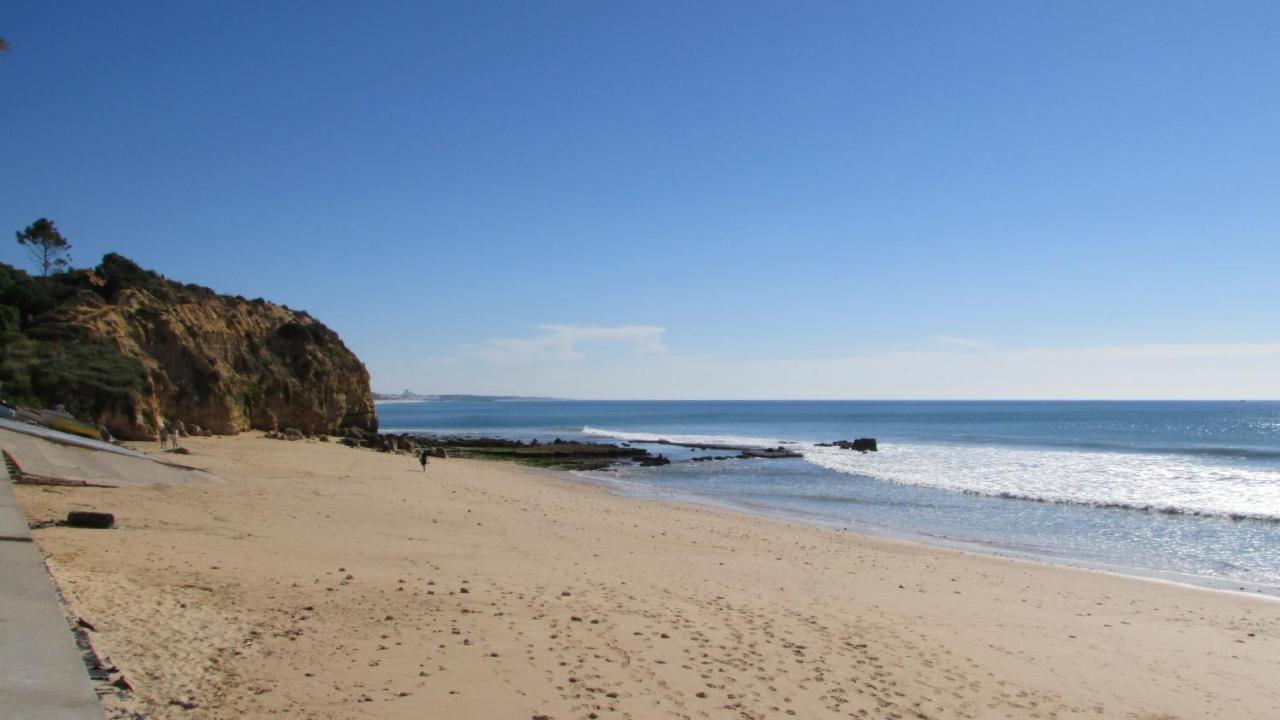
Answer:
M124 438L378 429L369 372L303 311L219 295L106 255L49 281L0 265L0 380Z

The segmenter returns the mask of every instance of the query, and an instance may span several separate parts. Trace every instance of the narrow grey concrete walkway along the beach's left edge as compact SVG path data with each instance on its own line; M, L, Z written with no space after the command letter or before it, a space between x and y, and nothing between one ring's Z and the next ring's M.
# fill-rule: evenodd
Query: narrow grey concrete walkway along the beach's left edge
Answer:
M0 720L102 720L27 518L0 477Z

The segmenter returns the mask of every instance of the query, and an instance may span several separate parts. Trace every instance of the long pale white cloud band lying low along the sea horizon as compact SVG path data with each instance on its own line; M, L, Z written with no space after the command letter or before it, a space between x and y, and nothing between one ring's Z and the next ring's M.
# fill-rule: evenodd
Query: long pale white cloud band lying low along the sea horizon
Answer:
M604 333L623 354L575 363L511 364L512 352L581 357L584 328L547 331L515 347L485 345L500 372L481 363L436 365L433 387L449 392L580 398L1280 398L1280 342L993 347L956 346L840 356L773 359L643 352L662 333ZM622 340L627 338L627 340ZM643 340L641 340L643 338ZM522 345L524 343L524 345ZM567 350L566 350L567 348ZM413 377L389 386L417 387Z

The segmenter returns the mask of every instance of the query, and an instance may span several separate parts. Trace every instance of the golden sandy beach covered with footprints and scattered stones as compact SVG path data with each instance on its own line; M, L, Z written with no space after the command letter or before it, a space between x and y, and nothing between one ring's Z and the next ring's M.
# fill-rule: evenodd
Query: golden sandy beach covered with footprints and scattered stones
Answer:
M31 520L116 514L35 537L148 717L1280 717L1268 598L507 464L186 445L227 482L17 488Z

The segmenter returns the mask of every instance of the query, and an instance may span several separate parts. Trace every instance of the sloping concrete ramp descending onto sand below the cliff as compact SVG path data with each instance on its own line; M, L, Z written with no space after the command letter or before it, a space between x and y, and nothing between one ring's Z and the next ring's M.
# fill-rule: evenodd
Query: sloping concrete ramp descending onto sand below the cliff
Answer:
M223 482L179 462L10 420L0 420L0 450L13 456L23 475L41 480L105 486Z

